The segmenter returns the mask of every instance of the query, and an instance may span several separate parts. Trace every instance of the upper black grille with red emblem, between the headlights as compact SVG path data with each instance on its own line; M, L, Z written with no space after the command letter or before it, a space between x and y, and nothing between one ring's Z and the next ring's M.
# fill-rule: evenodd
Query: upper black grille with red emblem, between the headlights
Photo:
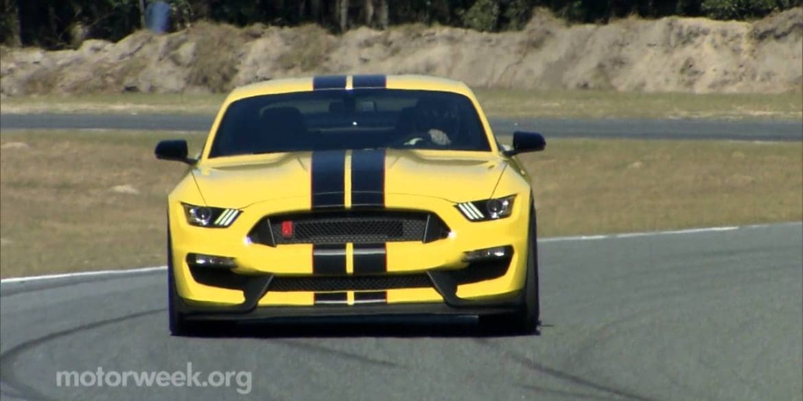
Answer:
M291 225L291 233L283 225ZM340 211L265 217L251 241L266 245L434 241L449 233L434 214L409 211ZM425 237L426 236L426 237Z

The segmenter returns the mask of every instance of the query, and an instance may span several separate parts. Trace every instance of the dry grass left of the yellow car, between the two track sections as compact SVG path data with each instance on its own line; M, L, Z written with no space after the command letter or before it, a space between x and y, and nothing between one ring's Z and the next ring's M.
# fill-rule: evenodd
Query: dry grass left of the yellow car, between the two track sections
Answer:
M165 196L185 171L153 158L166 136L2 133L0 275L163 264ZM138 193L112 189L126 184Z

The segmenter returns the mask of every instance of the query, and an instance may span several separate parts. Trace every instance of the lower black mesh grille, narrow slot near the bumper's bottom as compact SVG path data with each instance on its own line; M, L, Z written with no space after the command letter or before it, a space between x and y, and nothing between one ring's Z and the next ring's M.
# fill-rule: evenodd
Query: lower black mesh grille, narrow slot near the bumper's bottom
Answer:
M388 274L349 277L274 277L269 291L368 291L395 288L429 288L426 274Z

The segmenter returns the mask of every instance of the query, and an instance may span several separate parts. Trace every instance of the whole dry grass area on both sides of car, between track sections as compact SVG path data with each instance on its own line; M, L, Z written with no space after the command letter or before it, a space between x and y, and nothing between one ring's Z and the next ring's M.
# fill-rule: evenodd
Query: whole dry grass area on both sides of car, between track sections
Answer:
M165 196L186 166L153 145L177 136L190 152L203 140L0 134L0 276L164 264ZM552 140L522 160L543 237L803 219L801 143Z

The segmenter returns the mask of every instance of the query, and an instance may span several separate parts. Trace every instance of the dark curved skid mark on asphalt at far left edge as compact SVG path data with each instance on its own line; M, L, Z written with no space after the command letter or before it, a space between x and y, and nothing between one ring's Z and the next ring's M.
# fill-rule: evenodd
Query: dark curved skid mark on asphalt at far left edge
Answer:
M8 388L18 392L20 395L22 395L22 398L24 399L30 399L31 401L55 401L55 399L51 399L46 395L43 395L34 387L28 386L27 384L23 383L22 380L20 380L15 375L14 362L16 362L17 358L21 354L24 354L27 350L31 350L46 342L51 342L55 339L65 337L71 334L80 333L81 331L97 329L99 327L109 326L115 323L124 322L129 319L142 318L145 316L149 316L151 314L161 314L164 312L165 308L145 310L142 312L127 314L116 318L108 318L105 320L101 320L99 322L88 323L83 326L77 326L67 330L56 331L55 333L47 334L43 337L34 338L32 340L22 342L17 346L13 346L9 350L0 353L0 383L5 384Z

